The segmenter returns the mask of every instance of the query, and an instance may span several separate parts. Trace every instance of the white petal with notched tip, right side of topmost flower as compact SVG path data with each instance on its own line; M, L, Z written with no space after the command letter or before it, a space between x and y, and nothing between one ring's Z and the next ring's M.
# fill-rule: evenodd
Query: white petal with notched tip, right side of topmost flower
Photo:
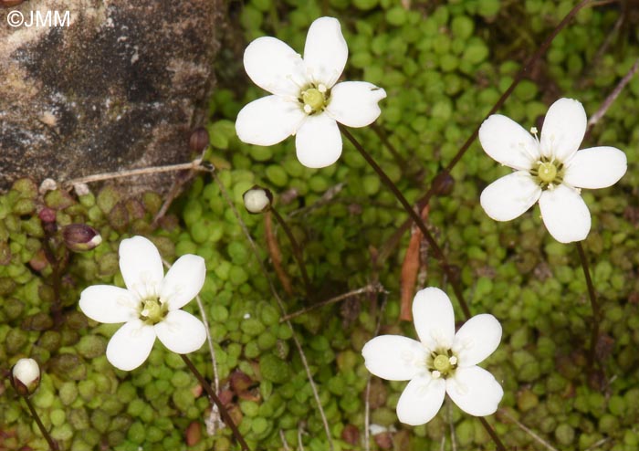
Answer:
M366 127L375 121L382 110L377 104L386 91L365 81L344 81L330 90L326 108L330 117L349 127Z

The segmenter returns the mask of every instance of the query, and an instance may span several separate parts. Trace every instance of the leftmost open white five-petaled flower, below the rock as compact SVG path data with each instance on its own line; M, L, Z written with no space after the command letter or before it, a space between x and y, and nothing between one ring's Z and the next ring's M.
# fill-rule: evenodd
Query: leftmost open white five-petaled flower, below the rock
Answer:
M158 249L143 236L134 236L120 243L120 270L127 288L94 285L84 289L79 300L91 320L125 322L107 346L113 366L124 371L139 367L156 336L179 354L200 349L206 339L204 324L181 309L204 285L204 258L184 255L164 277Z

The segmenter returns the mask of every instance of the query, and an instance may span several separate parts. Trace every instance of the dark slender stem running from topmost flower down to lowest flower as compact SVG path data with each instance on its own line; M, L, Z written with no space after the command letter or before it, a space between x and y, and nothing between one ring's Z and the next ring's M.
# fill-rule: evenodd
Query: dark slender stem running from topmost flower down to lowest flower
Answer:
M364 157L364 160L366 160L366 162L371 165L375 173L377 173L379 177L382 179L382 182L386 184L386 186L388 186L388 188L393 192L397 200L400 201L400 204L402 204L403 209L406 210L406 213L408 213L408 215L411 216L415 225L419 227L419 229L422 231L424 238L428 242L428 245L431 246L431 248L433 249L433 252L435 253L435 257L437 257L437 259L439 260L440 265L444 269L446 277L448 278L451 285L453 286L453 290L455 291L455 295L457 300L459 301L459 305L461 306L462 310L464 310L464 315L466 316L466 320L468 320L471 316L470 309L468 309L468 305L466 304L466 300L464 299L464 294L462 293L462 289L459 286L459 282L456 276L453 274L453 271L451 270L450 266L448 265L444 252L439 247L439 245L437 245L435 238L428 231L428 228L426 228L426 225L424 224L424 220L422 220L422 217L420 215L417 215L417 213L415 213L413 207L408 203L406 198L403 196L402 192L397 188L395 184L393 184L393 181L388 177L388 175L386 175L386 173L383 172L379 164L375 163L375 161L372 159L372 156L369 154L369 152L366 152L366 150L363 148L360 142L358 142L357 139L355 139L355 137L351 135L351 132L346 130L346 128L341 126L341 124L340 124L340 131L352 143L352 145L355 146L355 149L357 149L357 151L360 152L361 156Z

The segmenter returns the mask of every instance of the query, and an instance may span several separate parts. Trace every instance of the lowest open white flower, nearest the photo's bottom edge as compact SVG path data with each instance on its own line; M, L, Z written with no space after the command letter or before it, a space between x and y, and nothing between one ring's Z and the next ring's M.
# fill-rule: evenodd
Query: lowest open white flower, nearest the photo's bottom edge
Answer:
M501 325L492 315L477 315L455 333L453 306L439 288L424 288L413 301L420 341L382 335L361 350L366 368L390 381L411 382L397 403L402 423L423 425L448 393L466 414L494 414L504 394L493 375L477 366L498 347Z

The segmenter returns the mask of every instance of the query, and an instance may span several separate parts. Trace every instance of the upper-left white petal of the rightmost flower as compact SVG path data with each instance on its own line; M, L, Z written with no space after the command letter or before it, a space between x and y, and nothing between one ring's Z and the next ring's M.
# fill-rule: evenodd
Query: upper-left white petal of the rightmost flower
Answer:
M513 169L528 171L539 160L539 142L501 114L493 114L481 124L479 142L490 158Z

